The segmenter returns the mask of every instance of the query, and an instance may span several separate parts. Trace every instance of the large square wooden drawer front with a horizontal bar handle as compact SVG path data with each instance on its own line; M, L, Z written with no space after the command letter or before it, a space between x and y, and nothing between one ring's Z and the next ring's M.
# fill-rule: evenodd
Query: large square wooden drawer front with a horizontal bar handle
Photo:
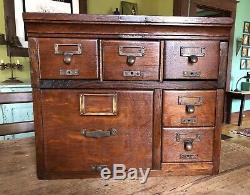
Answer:
M152 91L44 90L42 98L48 171L152 167Z

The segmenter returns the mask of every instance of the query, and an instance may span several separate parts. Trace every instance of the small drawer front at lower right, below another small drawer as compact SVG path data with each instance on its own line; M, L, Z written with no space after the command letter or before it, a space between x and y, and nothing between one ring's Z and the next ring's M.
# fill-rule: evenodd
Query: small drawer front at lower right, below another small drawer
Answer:
M163 162L212 161L213 132L204 127L163 129Z

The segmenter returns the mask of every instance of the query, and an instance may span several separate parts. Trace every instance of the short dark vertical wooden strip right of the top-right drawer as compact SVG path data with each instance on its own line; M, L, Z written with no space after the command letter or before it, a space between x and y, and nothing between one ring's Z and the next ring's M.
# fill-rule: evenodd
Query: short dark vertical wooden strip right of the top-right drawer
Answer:
M218 75L218 87L225 88L228 65L228 42L220 43L220 65Z

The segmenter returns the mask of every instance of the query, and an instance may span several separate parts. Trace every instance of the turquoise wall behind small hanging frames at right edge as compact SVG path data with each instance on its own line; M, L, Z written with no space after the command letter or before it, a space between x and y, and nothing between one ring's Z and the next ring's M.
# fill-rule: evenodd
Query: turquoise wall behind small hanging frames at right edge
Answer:
M240 70L240 57L241 52L236 56L236 39L242 37L244 21L250 21L250 1L249 0L240 0L237 5L236 12L236 21L235 21L235 32L234 32L234 45L233 45L233 59L232 59L232 72L231 72L231 88L235 89L237 80L245 76L250 70ZM243 80L244 81L244 80ZM240 83L239 83L240 88ZM234 101L232 112L239 112L240 102ZM250 110L250 100L246 101L245 110Z

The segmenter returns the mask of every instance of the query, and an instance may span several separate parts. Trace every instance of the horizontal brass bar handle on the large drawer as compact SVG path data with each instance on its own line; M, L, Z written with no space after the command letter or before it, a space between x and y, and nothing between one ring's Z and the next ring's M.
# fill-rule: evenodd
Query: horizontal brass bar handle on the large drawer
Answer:
M88 131L87 129L83 129L81 131L81 134L84 135L85 137L90 137L90 138L111 137L117 135L117 130L114 128L107 131L103 130Z

